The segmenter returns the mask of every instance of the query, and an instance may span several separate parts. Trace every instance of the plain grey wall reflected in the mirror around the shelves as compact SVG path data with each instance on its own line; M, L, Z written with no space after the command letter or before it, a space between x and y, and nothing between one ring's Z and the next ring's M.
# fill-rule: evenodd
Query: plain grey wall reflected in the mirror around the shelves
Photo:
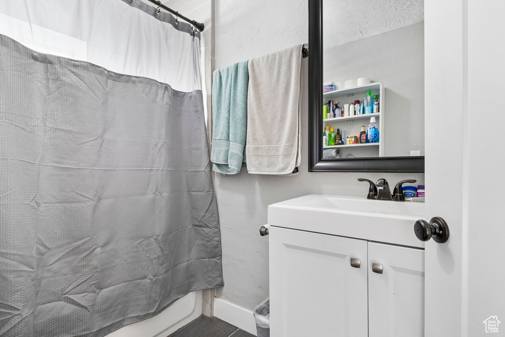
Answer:
M424 156L424 22L330 48L323 62L323 83L370 77L384 84L384 156ZM354 100L363 96L340 107Z

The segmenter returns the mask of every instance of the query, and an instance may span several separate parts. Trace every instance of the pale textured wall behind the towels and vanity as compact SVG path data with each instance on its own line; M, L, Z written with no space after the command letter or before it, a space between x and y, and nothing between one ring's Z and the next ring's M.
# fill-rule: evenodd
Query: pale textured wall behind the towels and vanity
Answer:
M215 3L216 69L308 42L307 0ZM307 78L307 61L304 65ZM308 194L365 196L368 187L356 180L360 177L384 177L392 183L406 178L424 182L424 174L309 173L307 107L306 84L301 121L302 164L297 176L252 175L245 168L237 175L216 175L225 281L216 296L248 310L269 296L268 236L260 237L258 233L267 222L268 205Z

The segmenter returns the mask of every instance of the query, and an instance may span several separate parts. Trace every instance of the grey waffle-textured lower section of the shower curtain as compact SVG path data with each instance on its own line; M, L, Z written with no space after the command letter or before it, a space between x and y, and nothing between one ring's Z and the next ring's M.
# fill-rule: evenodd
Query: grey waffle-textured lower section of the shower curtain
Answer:
M0 335L103 336L222 285L201 90L0 35Z

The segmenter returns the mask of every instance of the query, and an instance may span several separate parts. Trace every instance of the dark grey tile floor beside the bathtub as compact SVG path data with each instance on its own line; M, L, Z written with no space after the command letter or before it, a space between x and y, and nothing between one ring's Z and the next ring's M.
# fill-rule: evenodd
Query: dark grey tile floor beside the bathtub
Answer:
M216 317L200 316L168 337L254 337Z

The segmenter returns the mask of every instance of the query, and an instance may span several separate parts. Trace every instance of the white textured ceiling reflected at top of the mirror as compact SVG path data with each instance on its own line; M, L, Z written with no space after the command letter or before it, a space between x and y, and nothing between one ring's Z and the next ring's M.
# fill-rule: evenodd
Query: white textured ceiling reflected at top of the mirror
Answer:
M424 20L424 0L325 0L324 49Z

